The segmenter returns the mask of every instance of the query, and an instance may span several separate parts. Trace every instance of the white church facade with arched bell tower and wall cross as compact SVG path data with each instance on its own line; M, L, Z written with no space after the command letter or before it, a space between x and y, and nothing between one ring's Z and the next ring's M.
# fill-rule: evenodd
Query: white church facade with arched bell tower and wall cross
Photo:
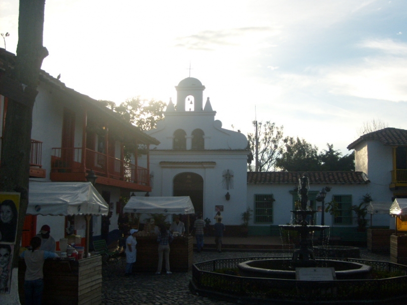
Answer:
M165 119L146 133L150 146L151 196L190 196L195 211L212 220L215 210L227 223L240 224L246 206L247 139L215 120L205 87L193 77L182 80L176 105L169 102ZM237 208L239 207L239 208Z

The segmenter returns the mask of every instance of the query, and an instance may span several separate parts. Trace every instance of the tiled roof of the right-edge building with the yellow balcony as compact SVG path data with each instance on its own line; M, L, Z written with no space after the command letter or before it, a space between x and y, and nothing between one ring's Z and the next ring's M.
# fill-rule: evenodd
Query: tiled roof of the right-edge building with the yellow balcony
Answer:
M367 140L377 140L383 145L400 146L407 145L407 130L399 128L383 128L373 132L363 134L356 141L347 146L347 149L354 149L358 144Z

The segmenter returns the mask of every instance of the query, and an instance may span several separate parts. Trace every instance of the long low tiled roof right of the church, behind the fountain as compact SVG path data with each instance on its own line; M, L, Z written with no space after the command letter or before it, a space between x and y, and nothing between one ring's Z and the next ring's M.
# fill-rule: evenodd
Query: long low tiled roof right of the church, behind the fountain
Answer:
M309 183L361 184L370 181L363 172L248 172L247 183L298 183L306 175Z

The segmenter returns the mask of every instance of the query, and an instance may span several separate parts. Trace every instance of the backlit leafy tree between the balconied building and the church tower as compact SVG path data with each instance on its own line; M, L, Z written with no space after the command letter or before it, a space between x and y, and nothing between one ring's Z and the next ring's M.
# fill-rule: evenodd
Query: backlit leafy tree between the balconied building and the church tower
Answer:
M116 106L111 101L100 101L107 108L118 113L126 122L136 125L141 130L149 130L157 125L157 122L163 119L165 103L154 99L141 99L140 96L127 99L125 102Z

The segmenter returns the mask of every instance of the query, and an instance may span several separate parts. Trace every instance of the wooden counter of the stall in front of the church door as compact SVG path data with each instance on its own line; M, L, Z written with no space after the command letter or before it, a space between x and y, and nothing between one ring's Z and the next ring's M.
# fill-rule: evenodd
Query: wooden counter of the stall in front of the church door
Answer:
M157 237L136 237L137 256L133 271L155 272L158 265ZM188 272L194 259L193 237L175 237L170 244L170 269L175 272ZM163 257L163 270L165 258Z

